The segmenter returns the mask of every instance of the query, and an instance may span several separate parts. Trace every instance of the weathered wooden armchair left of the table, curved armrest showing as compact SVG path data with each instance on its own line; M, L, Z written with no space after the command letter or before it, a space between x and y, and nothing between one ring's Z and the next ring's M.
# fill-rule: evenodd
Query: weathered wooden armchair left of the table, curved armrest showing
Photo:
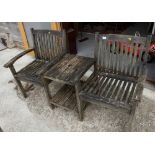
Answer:
M42 75L66 53L65 31L31 29L34 48L27 49L12 58L4 65L10 68L17 85L24 97L27 97L21 81L43 85ZM34 51L35 60L20 71L16 71L14 63L25 54Z

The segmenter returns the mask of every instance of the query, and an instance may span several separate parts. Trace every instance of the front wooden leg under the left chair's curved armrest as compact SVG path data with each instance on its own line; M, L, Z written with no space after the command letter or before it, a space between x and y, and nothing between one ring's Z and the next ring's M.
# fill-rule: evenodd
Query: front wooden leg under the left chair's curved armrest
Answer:
M13 67L13 66L10 66L10 70L11 70L11 72L12 72L12 75L13 75L13 77L14 77L16 83L17 83L17 86L19 87L19 89L20 89L21 93L23 94L24 98L26 98L26 97L27 97L27 94L26 94L26 92L25 92L25 90L24 90L24 88L23 88L23 86L22 86L20 80L18 80L18 79L15 77L16 71L15 71L14 67Z

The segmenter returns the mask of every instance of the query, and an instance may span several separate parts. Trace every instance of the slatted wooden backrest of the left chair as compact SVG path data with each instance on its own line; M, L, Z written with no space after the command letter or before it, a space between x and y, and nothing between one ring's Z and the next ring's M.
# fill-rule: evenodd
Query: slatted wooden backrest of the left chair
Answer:
M66 53L65 31L31 29L35 56L41 60L53 60Z

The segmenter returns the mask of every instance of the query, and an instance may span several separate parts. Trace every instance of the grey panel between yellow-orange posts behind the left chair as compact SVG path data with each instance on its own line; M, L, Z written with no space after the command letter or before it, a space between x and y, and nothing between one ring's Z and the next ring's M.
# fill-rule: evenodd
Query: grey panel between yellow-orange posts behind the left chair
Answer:
M24 28L27 36L27 40L29 43L29 47L33 47L32 36L31 36L31 28L34 29L51 29L50 22L24 22Z

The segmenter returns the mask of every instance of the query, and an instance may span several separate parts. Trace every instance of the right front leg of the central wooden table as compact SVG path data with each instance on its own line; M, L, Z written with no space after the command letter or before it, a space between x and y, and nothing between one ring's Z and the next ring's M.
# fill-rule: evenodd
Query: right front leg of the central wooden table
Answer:
M79 113L79 119L80 121L83 120L83 111L82 111L82 101L80 100L79 91L80 91L81 85L80 82L75 84L75 92L76 92L76 100L77 100L77 107L78 107L78 113Z

